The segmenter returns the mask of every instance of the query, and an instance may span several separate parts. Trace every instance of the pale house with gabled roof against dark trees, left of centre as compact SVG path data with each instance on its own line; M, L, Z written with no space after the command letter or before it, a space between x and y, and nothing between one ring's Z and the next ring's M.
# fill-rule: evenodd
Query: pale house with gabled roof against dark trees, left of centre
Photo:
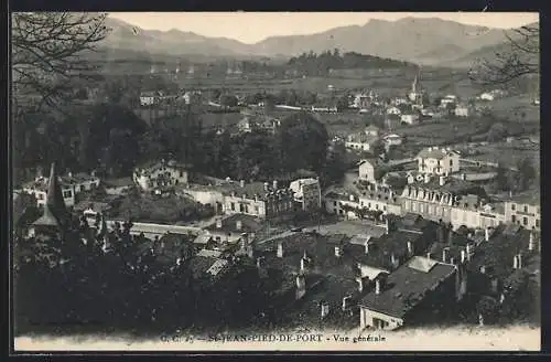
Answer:
M165 187L187 184L187 166L176 161L152 162L137 167L132 180L142 191L153 191Z

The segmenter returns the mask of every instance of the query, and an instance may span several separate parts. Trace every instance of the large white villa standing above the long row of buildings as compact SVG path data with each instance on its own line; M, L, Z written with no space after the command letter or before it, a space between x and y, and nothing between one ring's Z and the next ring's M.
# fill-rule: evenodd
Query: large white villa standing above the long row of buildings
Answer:
M460 171L460 153L450 148L424 148L417 160L420 173L449 175Z

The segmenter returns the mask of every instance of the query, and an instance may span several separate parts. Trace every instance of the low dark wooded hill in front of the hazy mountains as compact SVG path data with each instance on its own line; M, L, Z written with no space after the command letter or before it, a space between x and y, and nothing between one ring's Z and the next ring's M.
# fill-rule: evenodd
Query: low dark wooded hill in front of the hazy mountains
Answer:
M323 76L329 74L331 70L349 68L395 68L412 65L407 62L382 58L374 55L365 55L356 52L341 54L338 49L333 52L325 51L321 54L314 52L303 53L289 60L287 66L305 75Z

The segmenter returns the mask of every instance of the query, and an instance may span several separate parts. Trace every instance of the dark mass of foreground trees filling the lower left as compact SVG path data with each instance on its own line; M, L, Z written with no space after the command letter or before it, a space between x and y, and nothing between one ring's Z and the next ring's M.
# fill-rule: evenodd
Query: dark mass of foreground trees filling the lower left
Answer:
M82 242L87 225L64 241L17 241L15 332L151 333L192 326L212 332L258 319L269 295L251 262L234 260L214 283L194 273L188 242L166 264L160 242L132 237L130 226L108 235L107 253L99 237Z

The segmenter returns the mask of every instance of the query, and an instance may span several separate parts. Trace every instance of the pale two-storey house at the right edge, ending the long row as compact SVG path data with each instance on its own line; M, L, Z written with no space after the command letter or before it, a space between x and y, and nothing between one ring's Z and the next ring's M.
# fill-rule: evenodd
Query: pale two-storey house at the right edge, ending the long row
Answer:
M519 194L505 202L506 223L541 230L541 200L539 193Z

